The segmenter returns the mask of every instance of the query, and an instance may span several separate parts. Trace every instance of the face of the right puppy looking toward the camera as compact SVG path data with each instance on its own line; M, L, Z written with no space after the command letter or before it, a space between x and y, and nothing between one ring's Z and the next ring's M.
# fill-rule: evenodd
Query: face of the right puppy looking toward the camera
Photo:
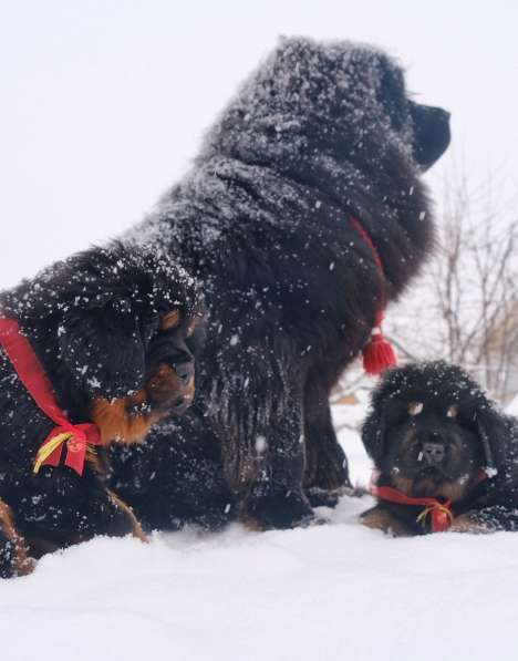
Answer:
M390 403L382 472L396 488L414 496L460 499L484 464L476 434L463 426L456 402Z

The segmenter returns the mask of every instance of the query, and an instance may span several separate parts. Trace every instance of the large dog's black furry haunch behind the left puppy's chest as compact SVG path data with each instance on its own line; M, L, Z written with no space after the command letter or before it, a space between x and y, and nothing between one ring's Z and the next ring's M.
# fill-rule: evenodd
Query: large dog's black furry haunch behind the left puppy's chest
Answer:
M208 438L198 416L179 420L157 425L138 445L112 445L110 484L132 504L146 531L189 525L217 530L237 516L220 444Z

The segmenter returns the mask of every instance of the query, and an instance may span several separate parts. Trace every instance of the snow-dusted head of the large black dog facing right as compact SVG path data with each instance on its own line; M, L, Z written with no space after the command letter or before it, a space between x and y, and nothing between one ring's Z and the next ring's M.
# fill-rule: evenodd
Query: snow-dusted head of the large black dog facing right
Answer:
M372 167L393 176L401 154L425 171L450 140L449 113L414 101L403 68L386 53L302 37L281 39L221 122L209 136L218 151L290 166L309 149L313 166L319 158L329 165L331 155L370 179Z

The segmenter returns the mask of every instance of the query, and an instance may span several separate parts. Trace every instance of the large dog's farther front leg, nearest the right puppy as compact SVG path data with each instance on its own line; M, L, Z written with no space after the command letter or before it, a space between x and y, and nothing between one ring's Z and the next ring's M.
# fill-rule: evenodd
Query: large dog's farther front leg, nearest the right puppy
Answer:
M318 379L309 378L304 392L304 488L314 505L333 505L333 494L351 487L348 458L334 432L329 394Z

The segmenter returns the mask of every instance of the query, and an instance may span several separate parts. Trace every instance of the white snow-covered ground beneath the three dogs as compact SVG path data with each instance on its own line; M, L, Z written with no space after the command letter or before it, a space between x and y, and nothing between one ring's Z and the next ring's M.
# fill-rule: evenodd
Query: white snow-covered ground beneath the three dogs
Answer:
M335 407L336 426L361 407ZM340 432L353 478L369 462ZM518 536L390 539L359 525L95 539L0 583L0 659L345 661L518 658Z

